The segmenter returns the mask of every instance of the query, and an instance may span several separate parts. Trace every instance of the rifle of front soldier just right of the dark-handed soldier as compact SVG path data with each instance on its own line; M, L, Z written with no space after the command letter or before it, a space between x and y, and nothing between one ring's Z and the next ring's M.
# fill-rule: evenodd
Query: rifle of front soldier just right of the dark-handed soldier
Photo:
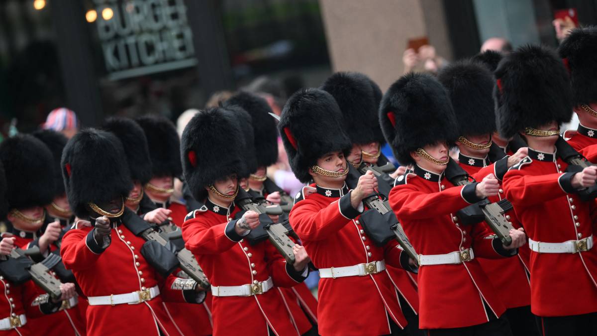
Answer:
M261 242L264 237L268 237L270 242L272 242L273 246L276 247L278 252L289 264L294 264L294 252L293 246L294 242L288 238L288 234L290 234L289 230L284 227L283 224L280 223L273 223L272 219L269 218L268 215L272 216L279 216L282 215L282 209L280 206L264 206L263 204L259 204L254 202L253 198L247 191L239 189L238 195L234 200L235 204L240 206L241 209L248 211L252 210L254 212L259 213L259 221L261 224L254 230L251 230L250 233L247 235L247 239L250 241L251 244L256 244ZM238 213L237 218L242 216L242 213ZM263 231L264 232L263 232Z

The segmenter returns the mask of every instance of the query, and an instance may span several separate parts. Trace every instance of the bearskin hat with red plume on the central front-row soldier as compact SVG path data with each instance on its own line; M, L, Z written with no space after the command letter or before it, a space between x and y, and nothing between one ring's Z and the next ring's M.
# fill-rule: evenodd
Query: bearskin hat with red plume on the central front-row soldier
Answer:
M278 130L290 167L303 183L311 179L309 168L318 158L334 151L347 154L352 148L338 103L318 88L297 91L288 99Z

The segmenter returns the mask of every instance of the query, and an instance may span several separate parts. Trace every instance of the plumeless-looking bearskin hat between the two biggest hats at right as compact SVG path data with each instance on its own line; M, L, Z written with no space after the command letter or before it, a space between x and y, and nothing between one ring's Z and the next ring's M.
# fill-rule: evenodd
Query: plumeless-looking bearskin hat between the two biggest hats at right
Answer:
M439 72L438 81L448 90L459 135L466 138L496 130L492 96L495 82L485 66L470 60L452 63Z

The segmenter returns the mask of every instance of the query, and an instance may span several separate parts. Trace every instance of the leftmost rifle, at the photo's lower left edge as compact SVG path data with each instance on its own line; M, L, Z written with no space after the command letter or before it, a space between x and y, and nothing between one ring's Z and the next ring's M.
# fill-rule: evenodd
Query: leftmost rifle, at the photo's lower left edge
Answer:
M39 255L39 248L37 246L26 250L14 248L13 251L10 252L11 258L14 259L27 258L27 256L31 255ZM26 267L29 274L31 274L33 282L50 294L50 297L54 300L60 300L62 292L60 291L60 281L53 277L49 271L50 268L54 267L61 261L61 259L62 258L60 258L59 255L50 253L44 261L36 263L30 262L30 265Z

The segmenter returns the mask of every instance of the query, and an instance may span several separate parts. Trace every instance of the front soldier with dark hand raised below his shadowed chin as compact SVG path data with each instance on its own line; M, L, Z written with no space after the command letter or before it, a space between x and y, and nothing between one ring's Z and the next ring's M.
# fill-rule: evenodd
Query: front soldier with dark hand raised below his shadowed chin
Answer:
M137 236L140 219L124 205L133 182L121 142L82 130L64 148L61 167L70 208L84 219L64 235L61 256L89 301L87 334L178 335L162 301L200 304L205 293L168 274L176 264L165 263L162 246Z

